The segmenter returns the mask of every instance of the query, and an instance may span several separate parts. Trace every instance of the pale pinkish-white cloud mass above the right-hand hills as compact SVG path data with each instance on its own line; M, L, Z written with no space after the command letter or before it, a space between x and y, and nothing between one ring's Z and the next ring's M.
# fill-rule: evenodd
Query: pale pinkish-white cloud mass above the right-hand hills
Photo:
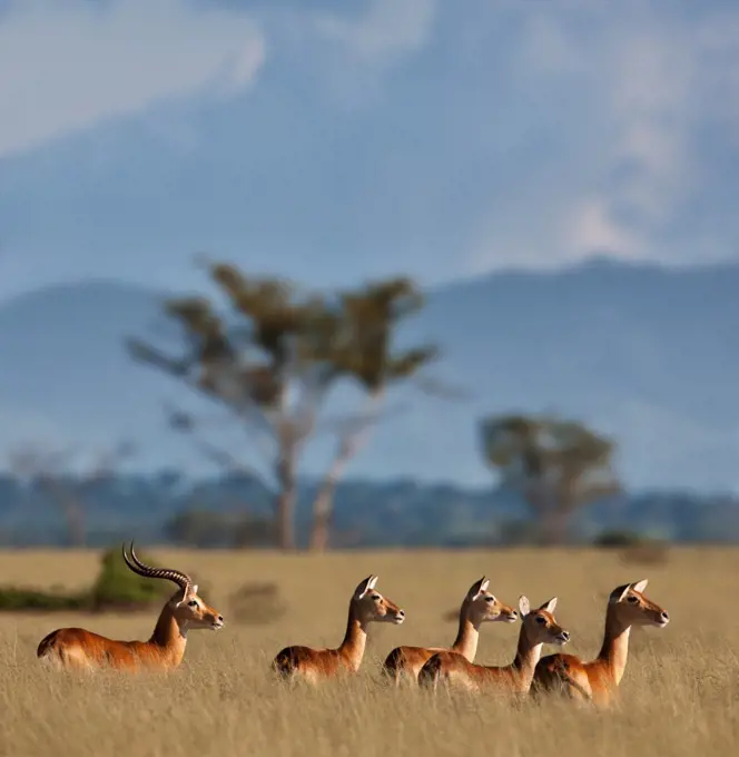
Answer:
M542 176L521 176L522 184L548 183L536 189L535 226L508 237L506 222L491 210L471 249L472 268L603 249L669 262L732 254L730 235L698 253L704 238L676 243L672 232L686 204L718 186L701 130L718 128L739 144L730 136L739 134L739 9L706 3L684 12L660 0L501 8L519 14L511 76L532 92L556 88L572 104L552 150L566 145L570 129L582 141L577 153L563 147L559 165L548 158ZM554 170L561 173L552 184Z

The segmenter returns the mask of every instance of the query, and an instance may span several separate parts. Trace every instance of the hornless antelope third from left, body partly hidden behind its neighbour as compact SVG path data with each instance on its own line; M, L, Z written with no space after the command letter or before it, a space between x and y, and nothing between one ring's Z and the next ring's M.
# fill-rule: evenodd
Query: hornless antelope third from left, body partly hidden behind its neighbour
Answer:
M385 658L383 672L396 685L403 675L417 682L418 671L426 660L442 651L459 652L472 662L477 652L480 626L484 622L514 623L519 613L487 591L490 581L483 576L467 591L460 608L460 626L456 639L451 647L396 647Z

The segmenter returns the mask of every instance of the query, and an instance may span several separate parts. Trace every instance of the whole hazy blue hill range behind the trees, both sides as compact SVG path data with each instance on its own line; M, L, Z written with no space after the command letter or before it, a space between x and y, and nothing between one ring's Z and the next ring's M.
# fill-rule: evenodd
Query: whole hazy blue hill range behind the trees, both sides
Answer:
M91 282L1 305L0 445L39 434L136 436L147 466L181 463L189 448L164 429L161 400L188 394L132 364L121 346L128 334L151 333L156 303L144 288ZM739 483L739 265L674 271L595 259L500 273L431 292L406 335L436 338L439 376L469 387L470 399L401 405L351 475L487 483L476 417L531 409L615 434L637 485ZM308 472L327 449L312 453Z

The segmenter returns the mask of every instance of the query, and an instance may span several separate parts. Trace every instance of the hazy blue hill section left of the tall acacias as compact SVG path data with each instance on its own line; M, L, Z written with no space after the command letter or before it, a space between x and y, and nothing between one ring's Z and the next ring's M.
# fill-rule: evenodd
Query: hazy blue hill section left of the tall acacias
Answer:
M158 293L120 283L48 287L0 306L0 444L115 443L161 433L165 377L131 363L122 340L148 333ZM154 441L154 440L151 440Z

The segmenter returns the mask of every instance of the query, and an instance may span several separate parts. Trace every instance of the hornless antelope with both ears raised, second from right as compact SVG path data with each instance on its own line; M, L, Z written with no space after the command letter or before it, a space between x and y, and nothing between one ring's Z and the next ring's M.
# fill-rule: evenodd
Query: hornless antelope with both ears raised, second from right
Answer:
M418 684L432 687L439 681L471 691L500 690L510 694L528 694L534 668L544 643L565 645L570 633L554 618L556 597L531 610L526 597L519 598L521 631L513 662L502 667L475 665L459 652L436 652L421 668Z

